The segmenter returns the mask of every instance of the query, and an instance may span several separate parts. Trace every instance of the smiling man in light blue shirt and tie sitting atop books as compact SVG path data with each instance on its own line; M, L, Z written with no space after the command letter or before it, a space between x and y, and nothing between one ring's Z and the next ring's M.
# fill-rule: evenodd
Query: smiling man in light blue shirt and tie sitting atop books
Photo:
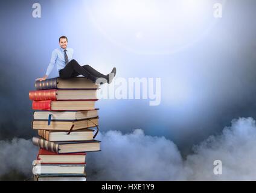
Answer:
M112 79L116 74L116 68L113 68L110 74L103 75L89 65L80 66L77 61L72 59L74 49L67 48L68 38L66 36L61 36L59 38L59 45L60 48L54 49L53 53L51 54L51 62L46 70L45 76L42 78L37 78L36 80L45 80L50 75L51 71L53 71L54 64L56 64L60 78L63 79L83 75L92 80L94 83L97 81L97 78L100 78L101 84L106 82L110 84L112 82Z

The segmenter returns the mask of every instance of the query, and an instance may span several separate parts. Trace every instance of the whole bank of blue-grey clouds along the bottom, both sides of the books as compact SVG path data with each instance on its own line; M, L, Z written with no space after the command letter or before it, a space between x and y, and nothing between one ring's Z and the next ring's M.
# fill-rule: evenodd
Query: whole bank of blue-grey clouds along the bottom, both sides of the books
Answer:
M173 142L141 129L100 132L102 151L87 156L88 180L256 180L255 120L231 123L219 136L194 146L185 160ZM30 140L0 141L0 175L17 169L30 176L37 150ZM222 161L222 175L214 175L214 160Z

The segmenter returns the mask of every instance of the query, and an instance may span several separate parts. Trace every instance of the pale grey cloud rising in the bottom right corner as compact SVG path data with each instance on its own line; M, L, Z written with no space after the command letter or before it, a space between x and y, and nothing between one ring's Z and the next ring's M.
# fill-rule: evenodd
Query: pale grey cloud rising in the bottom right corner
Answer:
M232 121L220 136L194 148L185 168L189 180L256 180L256 126L252 118ZM222 175L213 174L213 161L222 160Z

